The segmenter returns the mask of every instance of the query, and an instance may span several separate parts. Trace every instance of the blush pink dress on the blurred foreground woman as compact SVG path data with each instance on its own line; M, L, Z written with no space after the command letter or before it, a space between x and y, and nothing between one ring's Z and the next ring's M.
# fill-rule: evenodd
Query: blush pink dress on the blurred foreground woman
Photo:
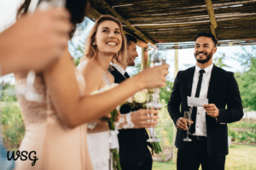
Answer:
M80 94L83 95L84 77L78 70L76 77ZM16 80L15 83L15 86L22 85L26 83L26 78ZM36 155L32 156L37 156L38 161L32 166L29 159L19 159L15 170L91 170L86 124L72 129L61 124L42 75L37 75L33 87L37 94L44 96L44 100L35 102L28 101L23 96L18 97L26 126L25 137L19 150L26 150L28 153L36 151Z

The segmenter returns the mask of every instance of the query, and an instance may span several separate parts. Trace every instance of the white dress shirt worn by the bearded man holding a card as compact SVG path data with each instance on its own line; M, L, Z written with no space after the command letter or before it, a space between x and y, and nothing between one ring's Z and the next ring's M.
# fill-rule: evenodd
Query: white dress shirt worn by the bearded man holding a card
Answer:
M207 66L207 68L204 69L206 72L203 73L199 98L207 99L209 83L212 75L212 68L213 68L213 64ZM195 74L193 78L191 97L195 97L200 70L201 68L195 65ZM203 107L197 107L195 133L193 135L207 137L206 110Z

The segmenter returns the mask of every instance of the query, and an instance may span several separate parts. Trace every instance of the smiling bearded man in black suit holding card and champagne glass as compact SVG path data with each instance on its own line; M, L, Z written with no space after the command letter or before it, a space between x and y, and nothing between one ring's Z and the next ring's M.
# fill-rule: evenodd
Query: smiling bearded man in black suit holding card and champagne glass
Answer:
M234 73L213 65L212 54L217 40L210 33L195 37L196 65L179 71L172 88L168 111L177 127L177 170L224 170L228 155L228 127L226 123L241 120L243 108ZM187 97L208 99L209 104L193 107L192 121L183 118L188 111ZM181 105L181 111L180 111ZM227 109L226 109L227 105ZM187 123L191 142L184 142Z

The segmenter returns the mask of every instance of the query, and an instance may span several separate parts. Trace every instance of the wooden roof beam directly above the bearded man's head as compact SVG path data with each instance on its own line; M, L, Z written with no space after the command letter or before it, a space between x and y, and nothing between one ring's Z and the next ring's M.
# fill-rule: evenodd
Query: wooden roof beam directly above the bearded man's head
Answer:
M217 44L218 44L218 38L216 36L216 32L215 32L215 29L217 28L217 22L216 22L216 19L215 19L215 14L214 14L214 9L213 9L213 6L212 6L212 0L205 0L206 4L207 4L207 12L208 12L208 15L209 15L209 19L210 19L210 22L211 22L211 31L212 31L212 34L213 36L217 39Z

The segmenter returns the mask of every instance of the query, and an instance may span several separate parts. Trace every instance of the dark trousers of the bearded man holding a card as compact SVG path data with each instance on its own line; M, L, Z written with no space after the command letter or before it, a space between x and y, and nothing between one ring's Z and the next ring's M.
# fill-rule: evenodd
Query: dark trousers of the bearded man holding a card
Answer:
M224 170L225 156L207 155L207 137L189 135L183 150L177 150L177 170Z

